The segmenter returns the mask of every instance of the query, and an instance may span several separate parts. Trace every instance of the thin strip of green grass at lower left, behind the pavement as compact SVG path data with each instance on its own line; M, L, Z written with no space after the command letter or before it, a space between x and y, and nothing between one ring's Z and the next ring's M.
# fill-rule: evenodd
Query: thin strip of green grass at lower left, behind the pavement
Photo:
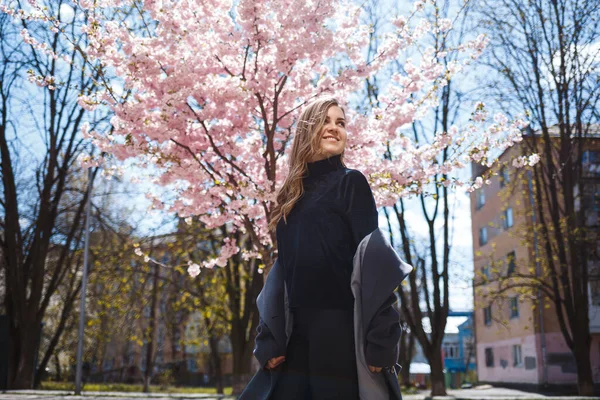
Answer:
M42 390L75 390L75 384L72 382L42 382ZM126 383L86 383L83 390L86 392L142 392L143 385ZM189 394L216 394L214 387L178 387L150 385L152 393L189 393ZM231 386L225 388L225 394L231 395Z

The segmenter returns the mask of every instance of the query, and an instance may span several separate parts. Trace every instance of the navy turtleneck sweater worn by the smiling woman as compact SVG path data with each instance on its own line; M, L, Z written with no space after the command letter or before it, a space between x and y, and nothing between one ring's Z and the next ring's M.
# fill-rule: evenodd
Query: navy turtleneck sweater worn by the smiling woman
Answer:
M341 156L308 163L304 194L277 224L278 259L291 308L352 309L353 258L377 229L375 200L366 177Z

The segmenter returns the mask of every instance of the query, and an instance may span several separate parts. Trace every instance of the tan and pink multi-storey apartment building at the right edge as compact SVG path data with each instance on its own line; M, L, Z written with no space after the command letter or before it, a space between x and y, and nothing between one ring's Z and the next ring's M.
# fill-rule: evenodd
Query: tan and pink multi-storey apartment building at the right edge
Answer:
M507 149L500 155L500 161L521 154L526 140ZM576 207L585 207L585 224L592 232L598 232L600 139L586 141L583 160L586 189ZM473 166L474 176L483 171L480 166ZM544 253L535 235L524 234L532 226L536 208L544 206L535 201L532 184L529 171L503 168L491 178L491 184L470 194L477 374L482 382L507 386L575 384L575 359L549 299L535 289L517 287L507 289L502 296L491 296L495 297L494 302L486 296L497 288L494 285L499 276L539 271L539 257ZM594 382L600 382L600 281L598 265L591 263L589 268L592 373Z

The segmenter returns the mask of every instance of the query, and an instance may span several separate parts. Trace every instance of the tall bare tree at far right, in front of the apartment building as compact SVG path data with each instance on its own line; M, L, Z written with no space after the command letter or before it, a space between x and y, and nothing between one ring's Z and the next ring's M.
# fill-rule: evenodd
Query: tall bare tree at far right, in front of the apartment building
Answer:
M583 155L597 136L600 3L479 4L478 21L491 40L484 59L486 71L493 71L487 73L486 93L506 111L529 111L535 134L523 148L541 155L531 177L535 216L530 228L539 240L543 271L516 274L502 290L529 287L549 300L576 360L579 394L592 395L588 283L590 266L598 262L598 254L590 251L596 248L598 226L597 221L586 226L585 207L578 204L596 179L586 174Z

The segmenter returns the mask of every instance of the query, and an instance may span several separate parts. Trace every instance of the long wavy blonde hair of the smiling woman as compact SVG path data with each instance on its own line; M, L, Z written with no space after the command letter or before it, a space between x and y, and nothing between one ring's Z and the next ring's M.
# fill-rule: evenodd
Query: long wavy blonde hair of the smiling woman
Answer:
M277 223L281 218L287 224L287 216L294 208L296 202L304 194L302 178L308 171L308 160L312 156L321 154L321 130L325 125L327 111L331 106L341 108L346 116L346 111L333 97L321 97L309 103L302 113L296 125L296 133L289 159L289 173L283 185L277 192L277 203L273 207L269 229L275 231ZM344 152L341 153L342 165L344 164Z

